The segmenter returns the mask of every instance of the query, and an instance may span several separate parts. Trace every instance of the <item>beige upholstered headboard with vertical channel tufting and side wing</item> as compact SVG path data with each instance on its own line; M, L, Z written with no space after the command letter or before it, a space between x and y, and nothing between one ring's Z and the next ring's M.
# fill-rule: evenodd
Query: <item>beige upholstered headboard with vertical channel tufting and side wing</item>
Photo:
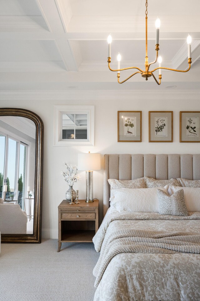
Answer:
M131 180L141 177L200 180L200 154L104 155L103 216L109 208L108 179Z

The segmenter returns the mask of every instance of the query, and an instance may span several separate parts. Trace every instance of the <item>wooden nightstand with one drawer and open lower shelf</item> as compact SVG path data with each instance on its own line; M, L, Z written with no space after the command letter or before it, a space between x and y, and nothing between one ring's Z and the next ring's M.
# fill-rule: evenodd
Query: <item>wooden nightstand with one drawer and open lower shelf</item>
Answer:
M58 206L58 252L62 242L92 242L99 227L99 200L70 205L63 200Z

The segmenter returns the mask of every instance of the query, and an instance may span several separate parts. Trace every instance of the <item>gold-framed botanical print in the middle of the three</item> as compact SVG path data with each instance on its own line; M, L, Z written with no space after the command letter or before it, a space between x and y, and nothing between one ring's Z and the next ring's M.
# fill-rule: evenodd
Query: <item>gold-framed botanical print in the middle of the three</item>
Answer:
M149 142L173 142L173 111L149 111Z

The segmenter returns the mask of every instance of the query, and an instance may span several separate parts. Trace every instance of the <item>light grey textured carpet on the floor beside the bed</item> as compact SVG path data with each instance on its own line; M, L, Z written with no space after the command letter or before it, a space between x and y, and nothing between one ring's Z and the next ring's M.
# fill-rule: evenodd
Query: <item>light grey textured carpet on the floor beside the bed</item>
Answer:
M93 243L1 244L0 301L93 301Z

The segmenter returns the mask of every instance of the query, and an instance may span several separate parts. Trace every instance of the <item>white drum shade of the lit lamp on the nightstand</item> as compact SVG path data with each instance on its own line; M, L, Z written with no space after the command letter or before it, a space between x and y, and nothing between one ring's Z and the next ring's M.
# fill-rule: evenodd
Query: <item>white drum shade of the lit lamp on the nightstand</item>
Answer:
M101 154L83 153L78 154L78 170L100 170Z

